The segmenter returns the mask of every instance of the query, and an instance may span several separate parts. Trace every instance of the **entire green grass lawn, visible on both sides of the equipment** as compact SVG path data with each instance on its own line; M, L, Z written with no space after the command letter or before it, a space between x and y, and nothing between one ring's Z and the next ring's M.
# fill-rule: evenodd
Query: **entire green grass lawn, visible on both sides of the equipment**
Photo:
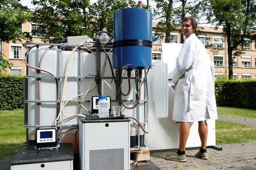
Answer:
M237 116L256 117L256 110L218 107L219 114L241 113ZM222 113L220 113L222 112ZM246 114L244 114L246 113ZM23 110L0 111L0 162L10 160L26 142ZM245 143L256 141L256 128L227 121L216 121L216 144Z

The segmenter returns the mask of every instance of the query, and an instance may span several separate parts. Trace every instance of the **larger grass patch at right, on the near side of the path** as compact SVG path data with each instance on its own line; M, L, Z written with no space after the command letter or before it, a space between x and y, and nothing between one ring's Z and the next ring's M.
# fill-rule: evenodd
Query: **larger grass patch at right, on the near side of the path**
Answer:
M256 141L256 128L228 121L216 121L216 144Z

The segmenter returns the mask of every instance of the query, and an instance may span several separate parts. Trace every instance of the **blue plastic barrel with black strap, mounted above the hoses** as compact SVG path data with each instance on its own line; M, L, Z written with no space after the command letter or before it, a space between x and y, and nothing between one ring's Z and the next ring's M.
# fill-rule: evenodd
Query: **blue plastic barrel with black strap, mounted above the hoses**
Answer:
M113 62L115 69L151 66L152 14L143 8L114 12Z

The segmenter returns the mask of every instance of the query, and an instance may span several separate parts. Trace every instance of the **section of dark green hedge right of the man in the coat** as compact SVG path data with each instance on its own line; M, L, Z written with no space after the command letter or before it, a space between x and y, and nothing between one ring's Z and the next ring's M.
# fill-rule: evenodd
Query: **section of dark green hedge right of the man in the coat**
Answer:
M256 109L256 80L217 79L215 94L219 106Z

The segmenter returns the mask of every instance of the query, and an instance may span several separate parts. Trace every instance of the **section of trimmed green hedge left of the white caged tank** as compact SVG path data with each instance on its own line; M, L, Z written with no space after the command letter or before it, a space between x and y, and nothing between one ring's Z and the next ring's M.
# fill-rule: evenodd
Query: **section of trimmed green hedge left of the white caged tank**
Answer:
M23 108L23 76L0 75L0 110Z

